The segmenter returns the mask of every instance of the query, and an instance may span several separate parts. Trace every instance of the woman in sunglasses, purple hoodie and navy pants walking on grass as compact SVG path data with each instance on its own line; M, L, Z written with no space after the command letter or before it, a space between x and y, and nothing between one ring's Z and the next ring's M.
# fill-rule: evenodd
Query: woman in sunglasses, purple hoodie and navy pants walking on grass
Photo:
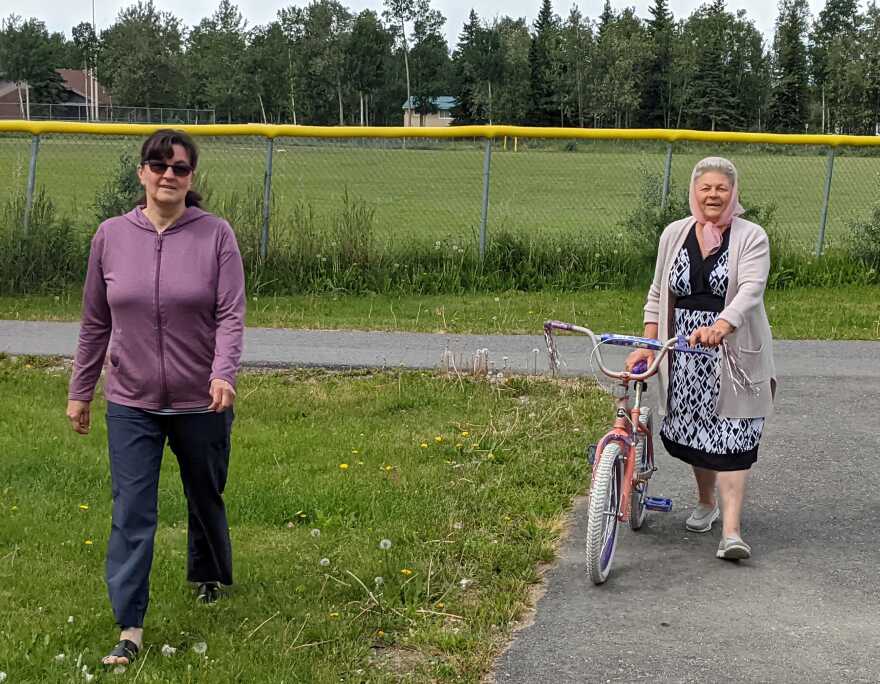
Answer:
M187 580L211 602L232 584L223 489L244 333L244 271L229 224L199 208L198 151L182 131L141 148L144 199L92 239L79 346L67 403L88 434L105 358L113 496L107 588L119 642L105 665L127 665L143 644L167 441L189 511ZM108 352L109 347L109 354Z

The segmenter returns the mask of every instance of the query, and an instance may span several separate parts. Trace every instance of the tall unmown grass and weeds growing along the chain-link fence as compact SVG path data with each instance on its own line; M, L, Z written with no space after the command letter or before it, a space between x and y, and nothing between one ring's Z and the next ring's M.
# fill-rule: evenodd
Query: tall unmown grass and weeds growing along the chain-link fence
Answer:
M130 160L95 199L96 219L121 212L137 188ZM615 230L602 233L529 234L491 229L480 258L476 229L447 237L402 238L378 225L374 207L347 190L335 207L300 202L273 205L267 256L261 256L262 189L245 187L214 197L205 178L206 206L236 231L248 290L254 295L340 292L351 294L464 294L517 290L580 291L644 287L654 268L657 241L671 221L688 214L686 193L673 187L661 202L662 177L642 173L637 208ZM858 239L827 246L821 258L799 247L776 221L775 207L746 202L745 217L767 230L773 258L771 288L866 285L880 282L875 216L856 226ZM880 213L878 213L880 215ZM57 216L40 191L23 228L24 198L15 196L0 215L0 294L46 294L82 282L88 236ZM866 247L867 245L867 247ZM874 245L871 247L871 245ZM874 250L874 251L871 251Z

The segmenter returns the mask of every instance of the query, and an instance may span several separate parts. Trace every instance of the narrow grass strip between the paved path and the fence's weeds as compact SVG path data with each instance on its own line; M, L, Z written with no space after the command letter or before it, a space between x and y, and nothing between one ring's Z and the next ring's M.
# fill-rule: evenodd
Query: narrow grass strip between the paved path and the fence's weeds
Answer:
M766 306L777 339L880 340L878 288L770 290ZM642 290L500 292L421 297L302 295L251 297L247 324L260 327L540 334L551 318L595 330L641 331ZM0 319L79 318L80 293L0 297Z

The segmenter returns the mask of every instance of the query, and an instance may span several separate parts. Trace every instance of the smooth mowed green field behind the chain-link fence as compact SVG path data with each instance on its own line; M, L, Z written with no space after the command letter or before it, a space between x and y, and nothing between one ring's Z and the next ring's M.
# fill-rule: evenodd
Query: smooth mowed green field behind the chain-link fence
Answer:
M111 177L123 150L137 154L139 139L44 136L37 164L38 184L63 214L92 228L96 191ZM200 138L204 174L215 198L262 197L265 141ZM476 240L480 224L482 143L410 140L367 141L279 139L275 142L273 212L297 202L332 215L345 193L375 209L380 239ZM424 147L424 145L423 145ZM662 177L665 144L579 142L576 152L535 148L520 140L507 149L499 141L492 157L489 235L508 229L530 234L611 231L640 201L643 177ZM673 185L683 192L694 163L707 154L730 156L741 172L746 203L773 205L776 221L797 243L817 239L825 183L825 150L747 146L723 150L682 145L673 157ZM25 188L30 138L0 138L0 173L10 182L0 200ZM834 170L827 237L842 240L853 220L868 216L877 194L880 157L840 152Z

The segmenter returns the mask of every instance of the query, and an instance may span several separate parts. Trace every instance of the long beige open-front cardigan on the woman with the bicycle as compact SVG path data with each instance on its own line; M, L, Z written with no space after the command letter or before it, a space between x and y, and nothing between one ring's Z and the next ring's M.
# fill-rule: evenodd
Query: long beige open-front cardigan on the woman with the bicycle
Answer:
M669 271L684 245L693 217L670 223L660 236L654 282L645 304L645 323L657 323L658 339L672 336L675 295L669 292ZM770 272L770 245L761 226L734 218L730 228L728 285L724 310L719 314L735 330L725 338L735 361L757 388L735 389L726 363L721 364L721 387L716 411L723 418L759 418L773 412L776 371L773 365L773 337L764 309L764 288ZM663 315L660 315L660 312ZM670 354L671 357L671 354ZM670 363L661 363L659 380L660 414L666 414Z

